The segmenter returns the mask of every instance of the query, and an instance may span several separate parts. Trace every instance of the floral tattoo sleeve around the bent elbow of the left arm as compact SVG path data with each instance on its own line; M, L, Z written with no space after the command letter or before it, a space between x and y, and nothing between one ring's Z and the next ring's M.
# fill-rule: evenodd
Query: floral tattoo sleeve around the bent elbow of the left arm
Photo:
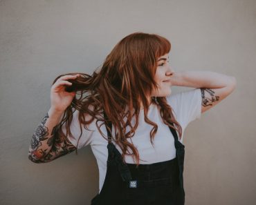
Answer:
M28 159L35 163L50 162L57 157L61 157L75 150L75 146L70 141L65 141L55 136L57 126L53 128L51 135L49 135L48 128L45 126L48 118L47 113L37 126L30 141Z

